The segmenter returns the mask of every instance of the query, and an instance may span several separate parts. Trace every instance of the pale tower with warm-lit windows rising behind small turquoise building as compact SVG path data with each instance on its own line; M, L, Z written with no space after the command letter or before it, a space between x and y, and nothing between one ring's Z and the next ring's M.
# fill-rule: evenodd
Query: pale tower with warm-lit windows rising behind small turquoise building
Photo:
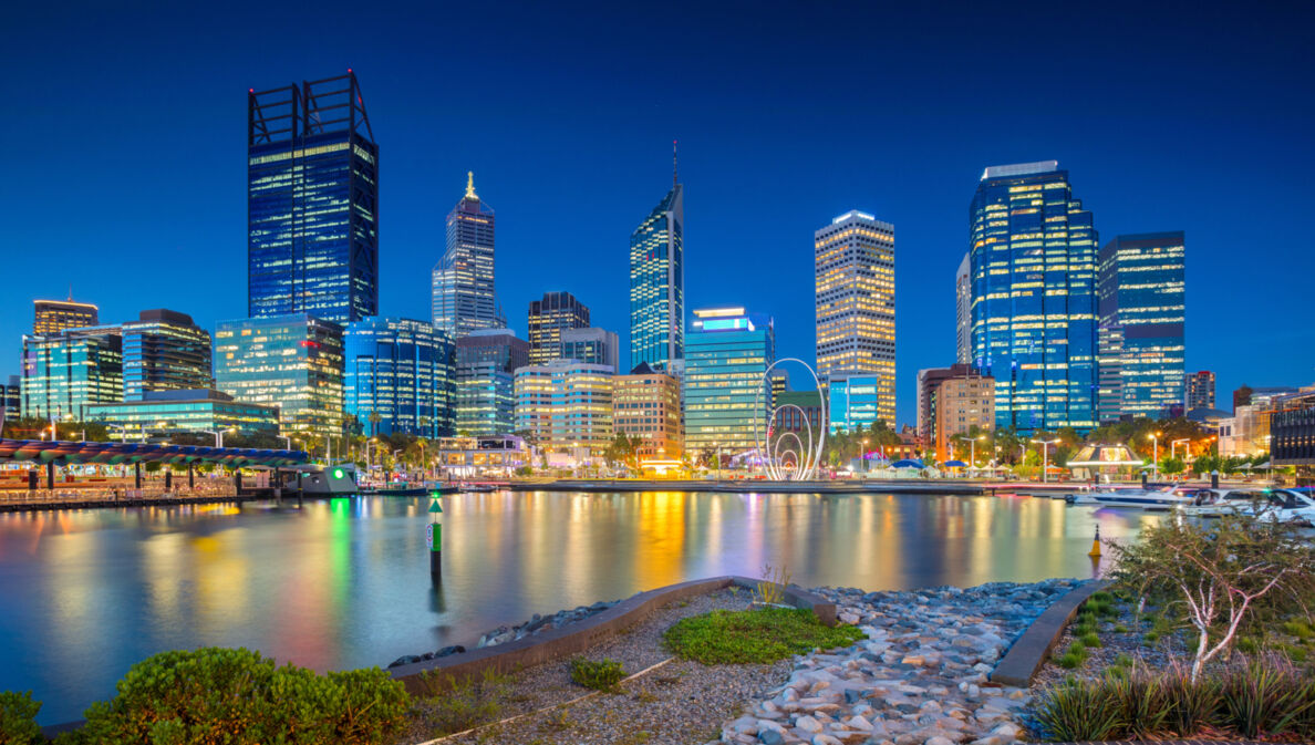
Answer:
M877 378L877 417L896 424L896 229L856 209L813 234L818 375Z

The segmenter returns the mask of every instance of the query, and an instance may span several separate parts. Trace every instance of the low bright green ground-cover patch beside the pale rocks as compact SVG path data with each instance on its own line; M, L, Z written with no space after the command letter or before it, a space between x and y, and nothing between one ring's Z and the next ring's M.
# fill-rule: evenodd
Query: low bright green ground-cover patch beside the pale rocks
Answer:
M681 619L665 634L672 652L704 665L776 662L860 638L864 633L856 627L826 627L806 608L713 611Z

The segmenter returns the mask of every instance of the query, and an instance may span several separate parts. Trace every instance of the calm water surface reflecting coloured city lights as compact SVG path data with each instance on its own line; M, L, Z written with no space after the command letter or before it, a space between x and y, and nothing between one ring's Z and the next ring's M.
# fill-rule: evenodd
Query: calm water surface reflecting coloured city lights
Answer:
M898 590L1090 577L1095 525L1156 516L1027 498L493 492L0 515L0 690L78 719L160 650L247 646L317 670L388 665L498 624L685 579L786 567Z

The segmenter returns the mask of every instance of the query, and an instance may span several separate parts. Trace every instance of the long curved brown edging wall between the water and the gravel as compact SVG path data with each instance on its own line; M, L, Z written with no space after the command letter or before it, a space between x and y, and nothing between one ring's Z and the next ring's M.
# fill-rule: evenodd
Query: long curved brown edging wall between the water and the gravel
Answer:
M472 649L460 654L413 662L412 665L398 665L397 667L391 667L389 673L406 686L408 692L433 694L434 686L446 684L447 675L451 675L452 679L466 679L468 677L479 677L485 670L506 674L519 667L530 667L572 657L643 621L668 603L725 590L732 584L753 588L757 582L757 579L747 577L714 577L668 584L667 587L648 590L626 598L601 613L594 613L588 619L558 629L497 646ZM797 586L782 588L782 595L788 604L796 608L807 608L823 624L828 627L835 625L835 603ZM429 681L422 681L421 677L430 671L437 673L439 678L431 677Z

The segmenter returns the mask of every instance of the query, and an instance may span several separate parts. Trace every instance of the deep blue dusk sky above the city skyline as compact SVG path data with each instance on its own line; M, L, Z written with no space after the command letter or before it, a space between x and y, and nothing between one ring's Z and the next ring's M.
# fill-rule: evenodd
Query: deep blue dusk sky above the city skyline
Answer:
M953 362L981 170L1055 158L1102 242L1186 232L1187 367L1222 400L1315 379L1308 4L37 5L0 22L0 374L70 284L104 321L243 316L246 91L352 67L387 315L429 319L473 170L512 326L569 290L625 336L627 238L679 138L689 304L773 315L781 355L813 358L813 232L896 225L911 421L915 371Z

